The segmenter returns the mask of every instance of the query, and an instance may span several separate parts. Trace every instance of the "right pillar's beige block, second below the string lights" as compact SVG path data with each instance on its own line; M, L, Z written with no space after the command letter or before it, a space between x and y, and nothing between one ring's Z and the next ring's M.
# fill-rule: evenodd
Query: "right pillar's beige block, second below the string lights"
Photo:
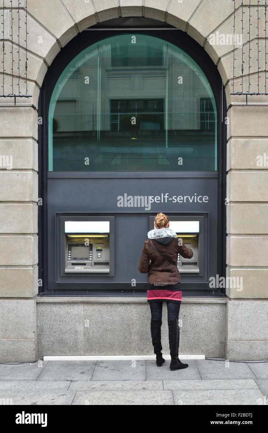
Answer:
M227 142L227 155L227 170L267 170L268 139L231 139Z

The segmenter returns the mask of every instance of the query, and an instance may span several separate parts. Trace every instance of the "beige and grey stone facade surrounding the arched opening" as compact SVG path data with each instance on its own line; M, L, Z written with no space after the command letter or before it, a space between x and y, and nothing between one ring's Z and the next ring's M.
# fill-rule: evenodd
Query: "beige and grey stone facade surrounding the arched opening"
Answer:
M23 8L26 1L20 0ZM254 3L252 5L252 3ZM252 8L257 1L251 3ZM264 5L264 0L259 2ZM245 6L249 4L244 1ZM4 0L0 6L5 14L4 39L6 53L10 52L10 2ZM13 0L16 11L18 1ZM264 6L263 6L264 7ZM147 354L149 335L147 330L135 326L135 317L148 322L148 309L141 303L72 304L37 303L38 292L38 106L39 89L45 73L53 59L78 32L107 19L120 16L145 16L165 21L187 32L203 47L218 66L226 88L228 136L227 136L227 275L243 277L243 290L226 289L226 303L203 303L201 309L191 298L182 303L182 313L191 312L198 328L211 331L210 341L203 336L195 352L194 324L185 328L183 352L205 353L210 357L226 357L229 360L263 360L268 358L268 163L257 165L258 155L268 155L268 96L230 95L232 92L232 46L210 45L209 35L216 31L232 33L233 2L225 0L28 0L28 94L30 98L0 97L0 155L13 156L11 170L1 165L0 179L0 362L21 362L37 359L37 356L63 354ZM22 11L23 9L21 9ZM241 12L241 11L240 11ZM239 10L237 11L239 13ZM246 12L248 14L248 12ZM16 25L14 13L13 25ZM254 21L255 14L252 20ZM262 14L262 19L264 14ZM248 16L248 15L247 15ZM245 18L246 19L246 16ZM237 20L239 21L239 20ZM240 24L241 26L241 24ZM252 28L254 27L254 23ZM239 33L239 28L236 29ZM257 45L252 32L252 87L256 85L258 71ZM21 57L24 42L21 37ZM40 42L41 41L41 42ZM15 46L17 38L14 37ZM261 43L264 43L262 39ZM261 45L260 45L261 46ZM14 60L16 62L16 51ZM236 49L236 57L241 56ZM5 87L10 86L11 59L5 58ZM245 69L247 64L245 63ZM260 70L263 71L263 56ZM2 81L3 64L0 66ZM15 70L15 74L17 74ZM15 90L17 80L14 80ZM263 81L262 81L263 83ZM240 80L236 79L236 87ZM25 92L24 80L20 80L20 91ZM262 90L263 91L263 90ZM93 300L94 301L94 300ZM147 306L148 307L148 306ZM209 307L209 308L208 308ZM86 308L86 312L83 310ZM130 310L132 309L132 323ZM100 335L84 340L84 319L101 316L113 320L116 312L125 315L123 333L113 334L107 323L103 349L96 343ZM202 314L206 319L202 319ZM87 314L86 314L87 313ZM134 315L134 322L133 322ZM66 317L73 317L74 328ZM37 343L37 318L39 344ZM57 321L55 323L55 318ZM108 322L109 322L108 320ZM56 325L50 332L48 324ZM96 323L92 323L95 331ZM131 328L132 327L132 328ZM130 328L133 331L129 338ZM144 328L144 326L142 326ZM68 332L69 330L69 332ZM139 332L142 333L139 335ZM143 334L146 333L145 334ZM69 343L64 345L68 333ZM110 333L110 334L109 334ZM214 334L213 334L214 333ZM224 333L224 335L223 335ZM110 338L109 338L110 336ZM114 340L111 338L114 337ZM142 346L139 341L144 337ZM190 339L188 342L185 338ZM224 342L225 339L225 342ZM75 340L77 350L71 344ZM217 342L215 341L217 340ZM165 344L167 344L165 342ZM130 347L132 345L132 347ZM147 346L146 346L147 345ZM58 350L56 350L58 349Z

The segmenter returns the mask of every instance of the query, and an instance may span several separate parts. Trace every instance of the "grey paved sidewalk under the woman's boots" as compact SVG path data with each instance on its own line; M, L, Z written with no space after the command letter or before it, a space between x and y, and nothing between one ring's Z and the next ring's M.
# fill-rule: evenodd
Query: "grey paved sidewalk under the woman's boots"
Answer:
M183 361L185 362L185 361ZM268 363L189 360L0 364L2 404L267 404ZM10 401L12 399L12 401Z

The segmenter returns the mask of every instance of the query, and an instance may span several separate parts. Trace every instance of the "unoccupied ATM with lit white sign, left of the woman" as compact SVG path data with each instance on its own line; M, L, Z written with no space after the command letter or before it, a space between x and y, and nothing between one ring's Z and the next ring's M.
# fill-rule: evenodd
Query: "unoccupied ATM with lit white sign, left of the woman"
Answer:
M65 221L65 273L110 272L110 222Z

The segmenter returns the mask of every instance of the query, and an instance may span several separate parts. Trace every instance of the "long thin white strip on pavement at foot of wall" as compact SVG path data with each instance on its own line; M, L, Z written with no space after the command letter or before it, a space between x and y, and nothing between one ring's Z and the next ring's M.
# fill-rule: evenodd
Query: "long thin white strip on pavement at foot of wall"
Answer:
M171 359L170 355L163 355ZM155 360L155 355L96 355L96 356L44 356L44 361L131 361ZM205 359L205 355L179 355L179 359Z

